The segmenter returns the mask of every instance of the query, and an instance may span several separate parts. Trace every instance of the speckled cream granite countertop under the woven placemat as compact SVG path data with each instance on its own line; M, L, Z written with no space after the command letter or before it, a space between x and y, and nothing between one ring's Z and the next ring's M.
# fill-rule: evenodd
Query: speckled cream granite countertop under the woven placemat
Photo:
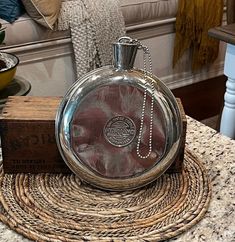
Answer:
M235 140L188 117L187 147L203 161L212 183L212 199L205 217L178 242L235 242ZM0 242L30 240L0 222Z

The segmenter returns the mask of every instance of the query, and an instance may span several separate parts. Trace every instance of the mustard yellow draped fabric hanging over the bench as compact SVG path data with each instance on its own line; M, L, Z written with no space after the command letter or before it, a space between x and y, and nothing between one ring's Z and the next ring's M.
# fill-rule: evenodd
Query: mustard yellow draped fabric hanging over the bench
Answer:
M223 5L223 0L179 0L173 66L189 48L193 70L216 59L219 41L209 37L208 30L221 25Z

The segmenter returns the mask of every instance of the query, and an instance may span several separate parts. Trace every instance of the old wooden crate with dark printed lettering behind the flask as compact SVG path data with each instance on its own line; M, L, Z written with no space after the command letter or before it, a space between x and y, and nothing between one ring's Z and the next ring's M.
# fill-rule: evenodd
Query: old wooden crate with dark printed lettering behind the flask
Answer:
M0 132L5 173L68 173L55 140L55 115L61 97L9 97L0 117ZM181 106L186 133L186 117ZM168 170L180 172L181 152Z

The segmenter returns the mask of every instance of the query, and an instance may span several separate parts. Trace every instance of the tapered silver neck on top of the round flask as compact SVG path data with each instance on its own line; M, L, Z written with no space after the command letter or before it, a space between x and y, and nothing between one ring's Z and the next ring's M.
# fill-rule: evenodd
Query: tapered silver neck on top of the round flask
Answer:
M138 44L133 42L117 42L113 44L113 65L119 70L133 68Z

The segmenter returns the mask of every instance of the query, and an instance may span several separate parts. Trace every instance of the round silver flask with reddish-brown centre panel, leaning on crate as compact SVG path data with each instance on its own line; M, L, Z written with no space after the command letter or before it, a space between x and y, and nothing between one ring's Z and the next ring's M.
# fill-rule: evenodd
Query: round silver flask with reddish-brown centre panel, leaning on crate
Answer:
M181 146L174 95L156 76L133 68L142 47L119 39L113 65L78 80L57 111L55 134L64 161L82 181L102 189L135 189L152 182Z

